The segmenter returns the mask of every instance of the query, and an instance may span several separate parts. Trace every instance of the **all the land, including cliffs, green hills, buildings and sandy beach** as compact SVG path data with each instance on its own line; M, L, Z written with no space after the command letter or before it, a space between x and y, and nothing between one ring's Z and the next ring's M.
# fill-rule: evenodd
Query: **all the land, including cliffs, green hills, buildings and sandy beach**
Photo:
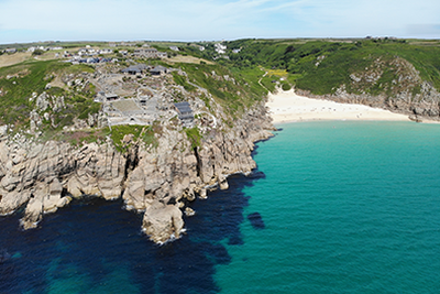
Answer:
M61 42L0 55L0 215L24 229L73 198L122 198L163 243L197 215L193 200L256 167L273 123L440 121L438 41Z

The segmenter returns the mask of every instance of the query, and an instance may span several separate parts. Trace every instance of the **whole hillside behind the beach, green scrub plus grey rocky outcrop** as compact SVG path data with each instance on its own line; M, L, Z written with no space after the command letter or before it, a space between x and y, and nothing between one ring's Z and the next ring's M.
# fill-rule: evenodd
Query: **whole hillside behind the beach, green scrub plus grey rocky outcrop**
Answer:
M438 117L440 42L405 40L239 40L231 66L286 70L297 89ZM377 98L381 97L381 98ZM416 108L421 108L416 111ZM428 111L429 108L435 111Z

